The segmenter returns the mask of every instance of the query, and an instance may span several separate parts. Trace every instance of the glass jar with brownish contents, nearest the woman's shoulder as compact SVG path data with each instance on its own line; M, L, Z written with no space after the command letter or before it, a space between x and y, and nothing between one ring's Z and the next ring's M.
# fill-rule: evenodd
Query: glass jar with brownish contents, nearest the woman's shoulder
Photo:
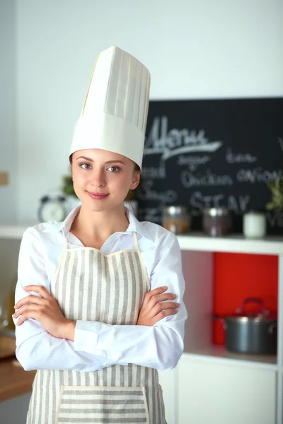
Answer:
M165 206L162 226L174 234L190 231L190 216L185 206Z

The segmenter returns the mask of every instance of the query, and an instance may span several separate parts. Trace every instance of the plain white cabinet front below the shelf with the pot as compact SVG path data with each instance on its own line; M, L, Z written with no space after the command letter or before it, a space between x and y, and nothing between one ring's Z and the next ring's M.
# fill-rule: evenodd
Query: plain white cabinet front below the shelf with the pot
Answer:
M275 424L276 371L183 357L178 424Z

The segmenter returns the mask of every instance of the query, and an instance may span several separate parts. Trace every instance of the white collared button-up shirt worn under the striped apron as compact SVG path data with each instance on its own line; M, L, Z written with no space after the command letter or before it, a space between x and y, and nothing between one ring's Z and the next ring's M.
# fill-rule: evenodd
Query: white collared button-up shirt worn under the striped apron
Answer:
M62 223L49 221L25 230L18 259L18 283L15 300L28 294L24 285L43 285L51 293L51 282L62 254L64 240L69 248L83 247L69 230L81 206L76 207ZM139 222L125 207L129 226L115 232L100 251L110 254L134 249L132 232L137 239L151 290L167 286L177 295L178 312L154 326L110 325L102 322L76 321L74 341L56 338L40 322L26 319L16 325L16 358L25 370L93 371L113 364L134 363L159 370L171 370L183 352L184 324L187 312L183 303L185 281L182 273L177 237L161 225ZM18 319L13 318L16 324Z

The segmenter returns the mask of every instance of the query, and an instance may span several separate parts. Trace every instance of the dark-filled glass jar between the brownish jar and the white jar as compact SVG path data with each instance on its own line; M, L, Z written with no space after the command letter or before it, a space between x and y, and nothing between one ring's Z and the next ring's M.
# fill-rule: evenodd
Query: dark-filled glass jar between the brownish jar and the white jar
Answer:
M229 234L231 230L231 215L227 208L205 208L202 225L205 234L218 237Z

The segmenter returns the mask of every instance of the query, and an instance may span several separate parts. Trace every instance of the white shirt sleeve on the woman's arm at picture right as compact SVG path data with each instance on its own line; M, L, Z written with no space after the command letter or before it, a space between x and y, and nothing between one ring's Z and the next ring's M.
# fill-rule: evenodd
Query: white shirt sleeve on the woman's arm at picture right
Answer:
M75 351L103 352L108 363L134 363L159 370L171 370L183 353L184 324L187 311L183 302L185 281L177 237L165 232L158 239L151 271L151 290L168 286L180 303L177 314L165 317L154 326L110 325L77 321Z

